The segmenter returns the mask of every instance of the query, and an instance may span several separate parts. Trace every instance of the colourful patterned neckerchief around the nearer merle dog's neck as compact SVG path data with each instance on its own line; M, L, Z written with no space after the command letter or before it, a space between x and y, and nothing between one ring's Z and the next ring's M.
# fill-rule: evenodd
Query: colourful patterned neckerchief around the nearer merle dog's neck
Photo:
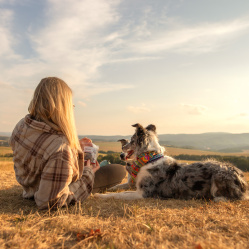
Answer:
M155 151L145 152L142 153L137 157L137 160L131 165L131 182L134 183L135 178L137 177L138 172L140 171L141 167L143 167L147 163L154 162L160 158L164 157L163 154L158 154Z

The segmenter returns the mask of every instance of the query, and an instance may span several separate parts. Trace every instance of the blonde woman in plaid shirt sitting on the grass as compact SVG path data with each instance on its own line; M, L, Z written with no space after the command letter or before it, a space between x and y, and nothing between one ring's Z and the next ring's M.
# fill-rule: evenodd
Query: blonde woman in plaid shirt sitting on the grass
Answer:
M91 140L79 143L72 91L63 80L42 79L28 110L10 138L15 175L24 198L34 198L40 209L62 207L122 181L125 170L121 165L99 170L98 162L87 161L84 167L82 151Z

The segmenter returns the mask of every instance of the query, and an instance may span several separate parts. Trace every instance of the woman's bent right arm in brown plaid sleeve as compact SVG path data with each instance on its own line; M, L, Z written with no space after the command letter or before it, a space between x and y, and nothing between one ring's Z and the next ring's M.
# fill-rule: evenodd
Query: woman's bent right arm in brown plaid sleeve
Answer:
M54 153L49 158L41 174L39 189L34 195L40 209L62 207L72 200L83 200L89 196L94 172L86 167L82 177L72 183L74 162L69 147Z

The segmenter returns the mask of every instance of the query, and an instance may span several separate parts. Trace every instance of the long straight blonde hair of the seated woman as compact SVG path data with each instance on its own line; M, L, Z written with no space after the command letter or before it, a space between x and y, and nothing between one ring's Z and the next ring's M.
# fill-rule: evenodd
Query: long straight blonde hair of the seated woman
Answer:
M28 110L35 120L61 131L72 149L81 150L75 127L72 90L63 80L57 77L42 79Z

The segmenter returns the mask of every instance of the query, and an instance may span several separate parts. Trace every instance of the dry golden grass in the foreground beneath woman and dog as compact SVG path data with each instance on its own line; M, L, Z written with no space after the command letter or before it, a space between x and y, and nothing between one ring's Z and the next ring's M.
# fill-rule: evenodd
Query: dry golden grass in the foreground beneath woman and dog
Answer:
M0 248L248 248L249 202L100 200L38 211L0 162ZM249 179L249 173L247 173ZM102 237L78 241L100 229Z

